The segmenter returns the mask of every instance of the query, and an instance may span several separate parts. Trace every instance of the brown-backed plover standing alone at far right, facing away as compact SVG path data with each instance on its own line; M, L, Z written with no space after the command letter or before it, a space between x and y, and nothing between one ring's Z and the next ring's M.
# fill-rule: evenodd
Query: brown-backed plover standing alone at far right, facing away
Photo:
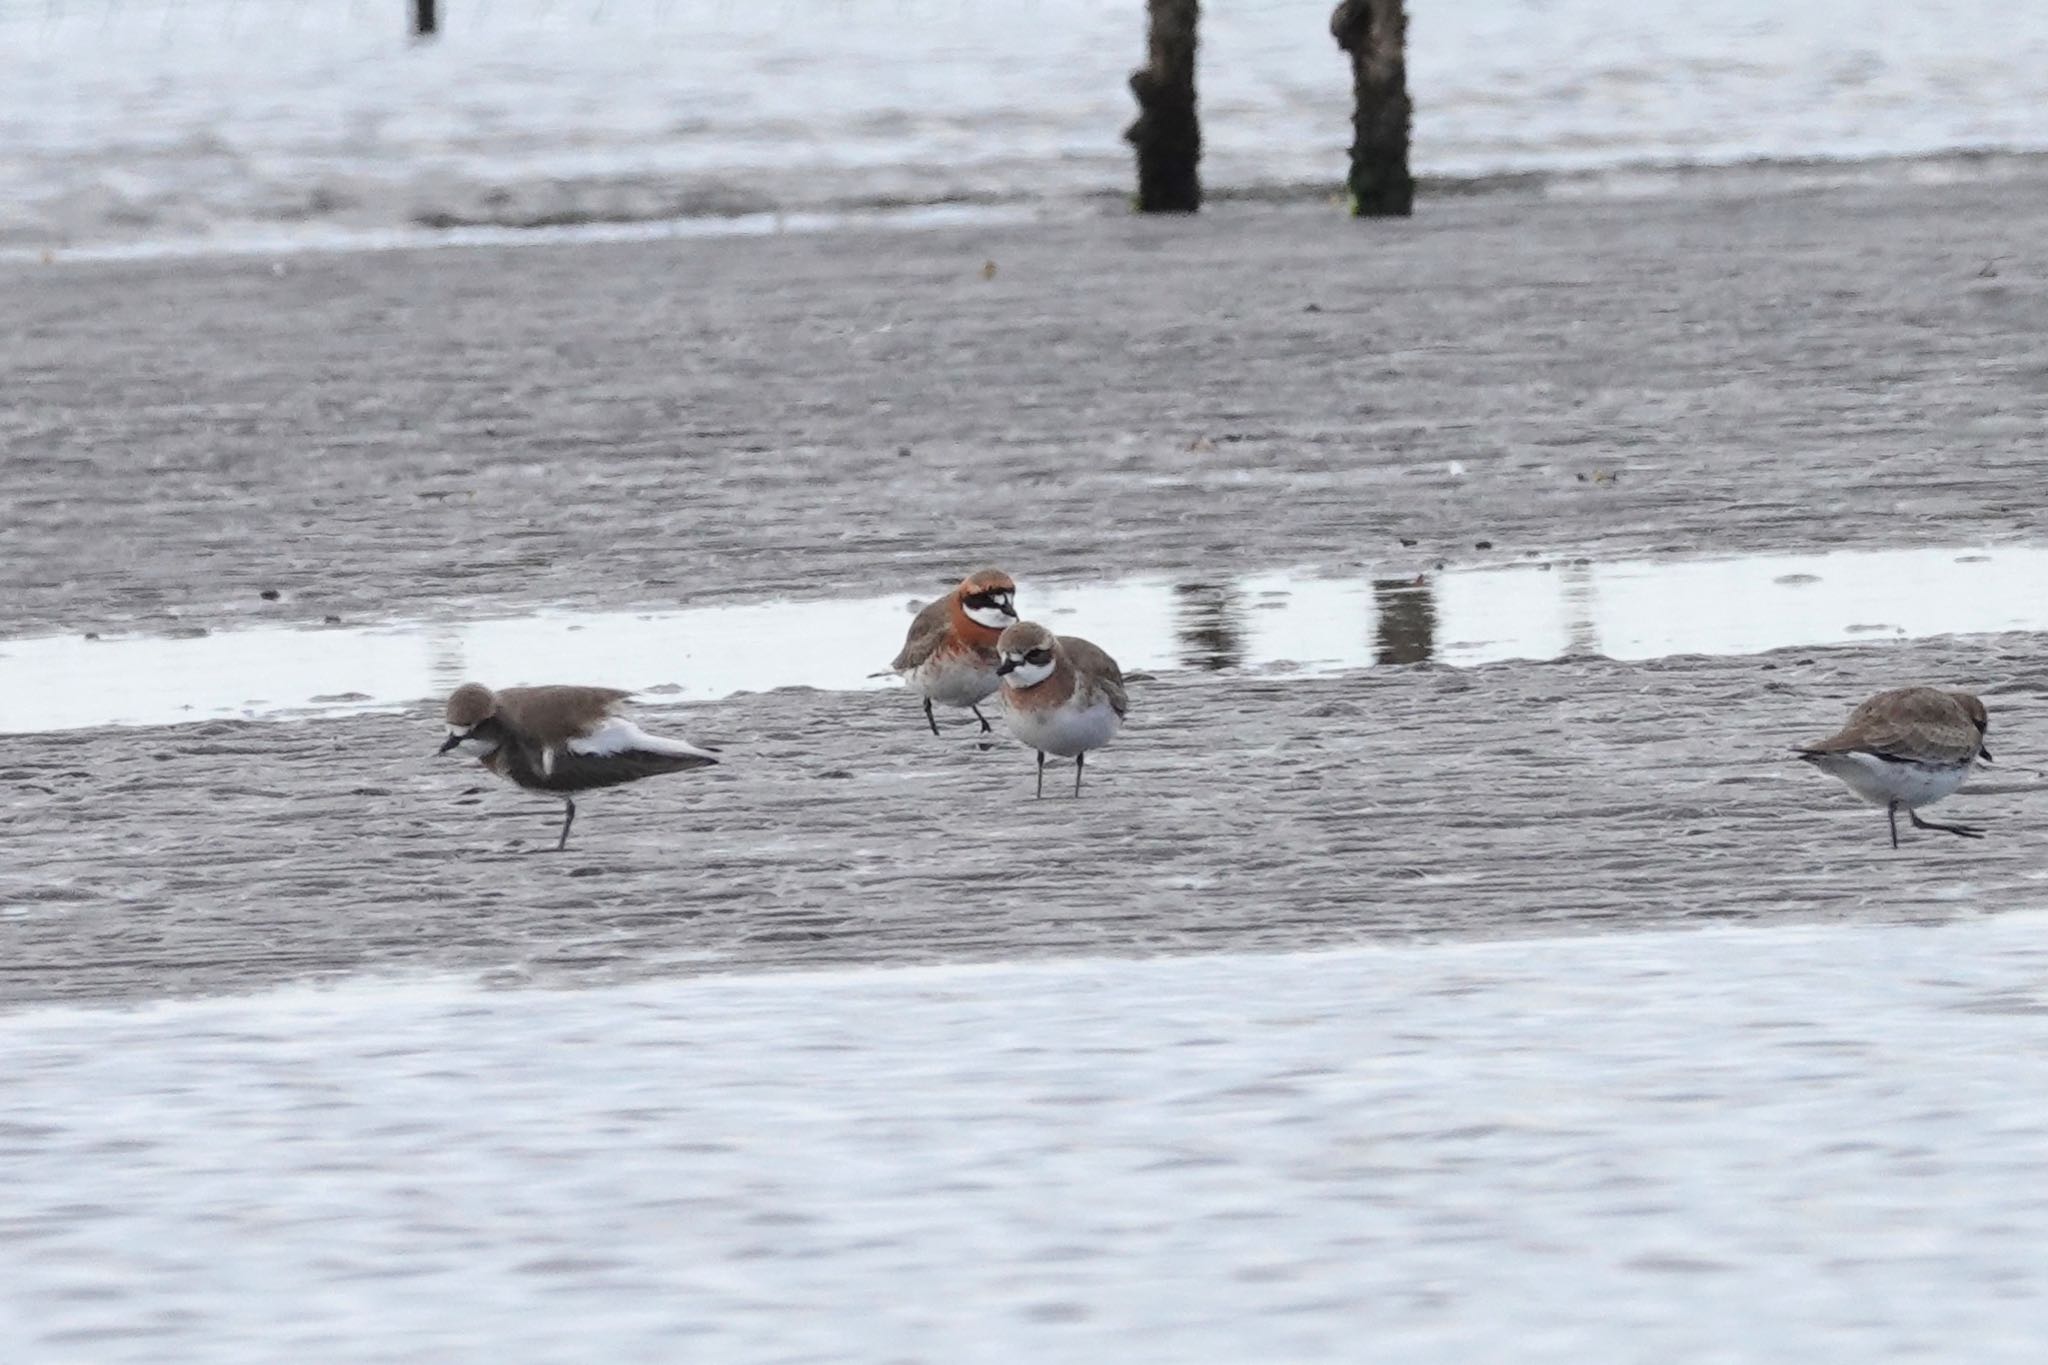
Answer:
M1851 792L1884 806L1898 847L1898 812L1913 829L1939 829L1964 839L1982 839L1974 825L1935 825L1919 819L1919 806L1933 804L1962 786L1970 765L1991 761L1985 704L1968 692L1937 688L1892 688L1849 712L1849 722L1827 739L1794 751L1821 772L1841 778Z

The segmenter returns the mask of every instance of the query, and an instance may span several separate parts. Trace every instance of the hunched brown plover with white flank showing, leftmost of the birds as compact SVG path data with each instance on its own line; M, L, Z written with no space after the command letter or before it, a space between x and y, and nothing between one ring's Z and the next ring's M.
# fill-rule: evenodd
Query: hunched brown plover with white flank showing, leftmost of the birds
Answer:
M682 739L649 735L616 714L631 692L616 688L506 688L463 684L449 696L449 739L528 792L555 792L567 806L555 851L569 847L573 792L655 774L709 767L717 755Z

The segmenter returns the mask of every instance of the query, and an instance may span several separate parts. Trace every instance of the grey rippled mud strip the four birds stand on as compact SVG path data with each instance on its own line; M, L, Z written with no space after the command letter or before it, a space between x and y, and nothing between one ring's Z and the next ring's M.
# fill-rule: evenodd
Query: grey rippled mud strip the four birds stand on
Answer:
M430 757L438 716L8 741L0 997L354 972L502 984L825 964L1296 950L2038 907L2034 636L1757 659L1174 673L1087 769L932 739L901 694L645 708L705 774L561 806ZM1995 751L1909 833L1792 761L1849 704L1982 688Z

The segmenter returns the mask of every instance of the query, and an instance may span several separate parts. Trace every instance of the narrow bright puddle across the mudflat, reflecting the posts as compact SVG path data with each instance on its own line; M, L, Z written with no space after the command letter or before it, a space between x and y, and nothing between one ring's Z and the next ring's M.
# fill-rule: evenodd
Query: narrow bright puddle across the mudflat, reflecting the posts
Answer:
M2048 632L2048 546L1522 563L1413 575L1251 573L1020 587L1026 616L1126 669L1335 673L1376 663L1749 655L1792 645ZM467 679L594 681L713 700L872 677L911 598L473 622L254 628L197 639L0 641L0 733L403 706Z

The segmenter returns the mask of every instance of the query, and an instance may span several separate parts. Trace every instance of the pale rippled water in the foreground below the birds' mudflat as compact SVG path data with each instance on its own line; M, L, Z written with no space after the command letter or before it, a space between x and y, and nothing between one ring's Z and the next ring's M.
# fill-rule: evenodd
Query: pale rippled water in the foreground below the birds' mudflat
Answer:
M2032 1361L2044 927L14 1013L0 1347Z

